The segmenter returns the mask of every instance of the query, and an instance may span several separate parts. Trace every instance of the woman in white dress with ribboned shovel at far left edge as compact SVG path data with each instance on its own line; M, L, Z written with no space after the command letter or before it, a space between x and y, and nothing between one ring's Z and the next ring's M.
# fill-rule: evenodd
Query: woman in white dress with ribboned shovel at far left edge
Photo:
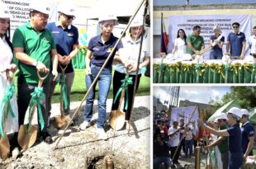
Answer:
M7 135L17 132L18 110L15 88L12 82L12 74L17 70L16 64L12 62L13 48L9 40L10 36L10 16L7 13L7 7L4 3L0 3L0 117L1 117L1 140L0 140L0 155L9 153L9 141ZM7 110L5 107L8 106ZM11 113L11 114L10 114ZM3 122L3 123L2 123ZM17 140L12 139L11 146L17 146ZM3 151L6 147L7 151ZM18 148L14 148L12 154L17 154Z

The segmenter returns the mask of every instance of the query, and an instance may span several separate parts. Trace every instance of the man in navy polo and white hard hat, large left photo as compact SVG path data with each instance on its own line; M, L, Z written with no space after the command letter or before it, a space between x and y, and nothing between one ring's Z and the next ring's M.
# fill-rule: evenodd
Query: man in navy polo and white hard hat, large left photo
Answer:
M65 83L67 86L67 96L70 105L70 91L73 84L74 72L71 60L78 54L78 28L72 25L74 16L73 4L63 3L58 7L59 20L49 23L46 27L54 36L56 49L59 55L59 67L65 68ZM61 73L61 69L58 68ZM51 96L55 92L57 82L50 81L49 114L51 110ZM69 106L64 109L66 115L69 114Z

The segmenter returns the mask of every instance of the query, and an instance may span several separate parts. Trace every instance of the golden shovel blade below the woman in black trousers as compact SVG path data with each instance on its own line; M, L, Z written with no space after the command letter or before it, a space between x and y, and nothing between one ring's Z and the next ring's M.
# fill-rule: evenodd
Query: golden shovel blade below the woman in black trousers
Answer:
M110 126L112 129L122 129L126 120L126 113L120 110L111 110Z

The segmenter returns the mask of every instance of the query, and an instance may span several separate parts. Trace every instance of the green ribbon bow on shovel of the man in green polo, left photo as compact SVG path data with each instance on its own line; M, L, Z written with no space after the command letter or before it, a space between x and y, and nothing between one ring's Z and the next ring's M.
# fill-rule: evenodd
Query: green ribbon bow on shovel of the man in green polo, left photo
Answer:
M40 120L40 126L41 130L45 128L45 121L42 114L41 104L40 100L45 97L45 93L43 92L43 87L35 87L35 91L31 93L31 102L29 104L29 129L31 128L31 115L32 115L32 107L34 105L37 106L38 114L39 114L39 120ZM27 131L29 131L27 129Z

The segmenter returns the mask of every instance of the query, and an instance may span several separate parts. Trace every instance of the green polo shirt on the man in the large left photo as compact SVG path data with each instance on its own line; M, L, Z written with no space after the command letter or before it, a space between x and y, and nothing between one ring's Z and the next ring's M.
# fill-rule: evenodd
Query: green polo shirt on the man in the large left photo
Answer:
M13 48L23 48L24 52L31 58L44 63L50 69L51 49L55 49L55 41L50 31L45 29L40 34L31 26L28 21L25 25L17 27L12 37ZM26 63L17 62L19 76L22 76L26 83L38 83L36 67Z

